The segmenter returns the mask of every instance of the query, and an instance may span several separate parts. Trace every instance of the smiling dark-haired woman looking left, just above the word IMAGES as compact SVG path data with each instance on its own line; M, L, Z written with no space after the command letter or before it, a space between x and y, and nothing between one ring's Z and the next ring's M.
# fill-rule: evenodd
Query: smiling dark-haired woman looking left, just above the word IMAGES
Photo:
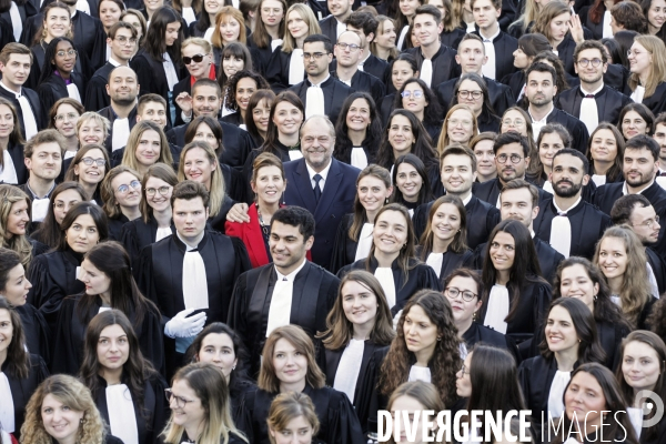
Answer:
M562 416L564 392L578 365L603 364L606 359L594 315L576 297L561 297L551 303L538 336L541 354L523 361L519 367L534 430L542 430L542 423L547 425L548 417Z

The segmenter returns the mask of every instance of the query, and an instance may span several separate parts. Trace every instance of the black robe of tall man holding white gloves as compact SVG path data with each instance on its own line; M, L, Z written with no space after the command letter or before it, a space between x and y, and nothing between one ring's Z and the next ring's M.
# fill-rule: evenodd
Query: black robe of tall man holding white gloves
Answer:
M214 231L205 232L198 245L205 264L209 291L208 323L225 322L233 285L241 273L252 268L245 245L240 239L228 238ZM185 310L183 300L183 260L185 244L171 235L143 249L139 258L137 283L141 292L153 301L162 313L164 325ZM175 341L164 337L168 374L181 364L175 353Z

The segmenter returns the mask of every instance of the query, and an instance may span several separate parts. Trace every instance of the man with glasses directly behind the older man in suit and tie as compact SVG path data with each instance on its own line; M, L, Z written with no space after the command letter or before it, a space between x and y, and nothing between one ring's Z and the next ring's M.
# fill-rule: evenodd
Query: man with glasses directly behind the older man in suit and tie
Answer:
M325 114L332 122L337 120L346 97L354 92L345 83L329 72L333 60L333 44L326 36L312 34L303 42L303 63L307 78L289 90L293 91L305 105L305 119Z

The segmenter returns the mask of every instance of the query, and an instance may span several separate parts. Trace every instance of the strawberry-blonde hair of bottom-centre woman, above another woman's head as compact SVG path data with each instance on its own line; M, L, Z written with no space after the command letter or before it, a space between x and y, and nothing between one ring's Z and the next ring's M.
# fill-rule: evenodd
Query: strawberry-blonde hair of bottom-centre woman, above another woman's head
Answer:
M287 341L296 351L305 355L307 359L305 381L314 389L322 389L326 383L326 376L314 359L314 344L307 333L297 325L284 325L271 332L262 352L261 371L256 385L270 393L280 392L280 380L273 365L273 352L280 340Z

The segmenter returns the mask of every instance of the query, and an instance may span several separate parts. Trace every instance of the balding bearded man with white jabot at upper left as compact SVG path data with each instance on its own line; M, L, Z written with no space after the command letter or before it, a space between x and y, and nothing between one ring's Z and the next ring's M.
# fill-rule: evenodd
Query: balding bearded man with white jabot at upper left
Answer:
M111 154L128 144L130 131L137 123L137 95L139 95L139 79L130 67L118 67L109 74L107 93L111 104L102 108L99 114L109 119L111 131L104 141L104 147Z

